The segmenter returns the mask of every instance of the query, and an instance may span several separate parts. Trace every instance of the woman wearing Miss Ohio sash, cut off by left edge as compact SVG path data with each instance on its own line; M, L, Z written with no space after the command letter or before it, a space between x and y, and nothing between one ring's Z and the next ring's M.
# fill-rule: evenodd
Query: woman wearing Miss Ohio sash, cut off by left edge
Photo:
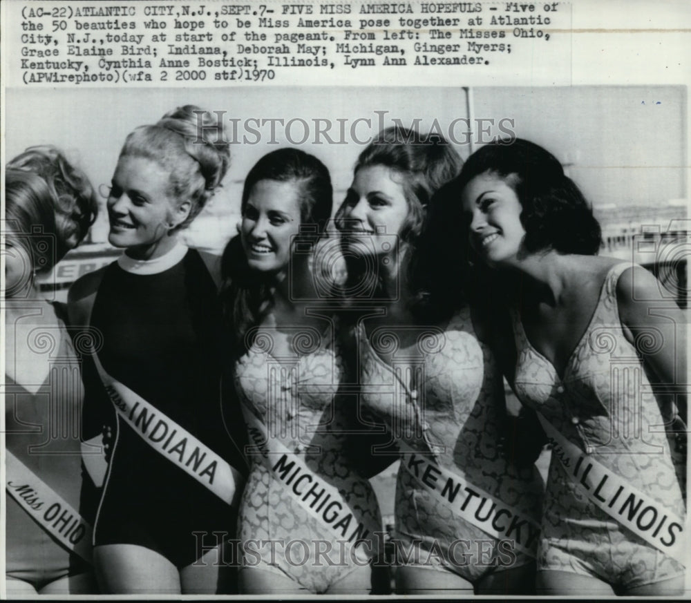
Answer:
M7 592L95 593L80 361L64 305L46 301L36 282L86 236L95 195L55 147L33 146L6 166L5 210ZM56 509L64 524L51 521Z

